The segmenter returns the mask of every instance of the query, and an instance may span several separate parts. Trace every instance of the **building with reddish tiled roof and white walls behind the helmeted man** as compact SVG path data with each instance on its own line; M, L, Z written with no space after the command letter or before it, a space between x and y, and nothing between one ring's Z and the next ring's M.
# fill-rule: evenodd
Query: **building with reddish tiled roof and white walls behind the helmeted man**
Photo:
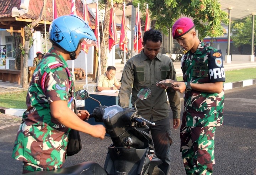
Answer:
M69 15L71 13L72 0L55 0L58 16ZM84 0L76 0L76 15L83 18ZM13 32L21 33L21 43L24 41L24 28L27 24L34 22L40 15L44 0L0 0L0 69L15 69L15 49ZM95 15L89 10L92 29L95 28ZM42 20L34 27L34 44L30 49L28 66L33 66L33 58L37 51L44 53L45 49L51 47L49 41L45 42L42 34L49 31L49 26L53 21L53 0L46 0L43 9ZM44 29L46 25L46 30ZM47 46L47 48L45 47ZM84 58L84 54L80 57ZM5 65L2 64L3 59ZM90 49L88 58L93 58L93 49ZM93 60L90 59L89 62ZM21 60L21 67L23 66ZM85 67L85 62L79 63ZM22 70L22 69L21 69ZM91 72L91 70L89 70Z

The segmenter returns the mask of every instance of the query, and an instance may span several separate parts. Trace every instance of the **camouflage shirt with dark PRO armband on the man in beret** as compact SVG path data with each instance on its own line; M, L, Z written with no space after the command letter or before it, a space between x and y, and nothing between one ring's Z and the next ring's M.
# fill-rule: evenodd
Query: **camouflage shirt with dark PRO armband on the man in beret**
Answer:
M184 82L224 82L222 54L201 42L195 53L188 51L181 60ZM185 93L183 117L187 126L220 126L223 122L224 88L221 93L207 93L192 89Z

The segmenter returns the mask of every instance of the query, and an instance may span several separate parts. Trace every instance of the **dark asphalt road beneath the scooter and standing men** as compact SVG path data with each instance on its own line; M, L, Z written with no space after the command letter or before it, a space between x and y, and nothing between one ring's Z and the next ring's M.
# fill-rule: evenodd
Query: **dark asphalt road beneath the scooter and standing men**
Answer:
M256 85L225 93L224 125L216 130L214 174L256 175ZM3 121L7 119L1 118L0 123ZM0 174L17 175L21 174L22 163L12 159L11 153L18 129L16 123L20 118L14 117L7 122L8 127L0 129ZM81 133L81 138L82 150L68 157L64 167L85 161L103 166L107 147L111 144L110 137L99 140ZM172 130L172 138L172 174L184 175L178 131Z

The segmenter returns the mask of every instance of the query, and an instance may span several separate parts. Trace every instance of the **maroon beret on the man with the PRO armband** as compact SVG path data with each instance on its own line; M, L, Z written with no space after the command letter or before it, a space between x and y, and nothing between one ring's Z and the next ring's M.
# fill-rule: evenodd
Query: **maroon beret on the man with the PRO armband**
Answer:
M179 38L185 35L192 28L194 28L194 23L190 18L183 17L178 19L172 26L172 37L173 39Z

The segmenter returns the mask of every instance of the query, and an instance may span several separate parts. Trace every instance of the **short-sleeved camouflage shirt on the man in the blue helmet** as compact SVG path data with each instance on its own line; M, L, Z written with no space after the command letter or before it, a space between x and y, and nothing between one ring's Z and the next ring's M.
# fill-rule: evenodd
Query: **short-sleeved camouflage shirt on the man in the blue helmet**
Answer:
M49 53L58 55L60 60L52 56L44 57L34 71L27 93L27 110L22 116L12 157L23 162L52 166L65 162L70 129L51 115L50 103L65 100L68 107L73 108L71 97L74 97L74 83L65 69L68 65L63 57L54 48ZM60 66L49 69L55 64ZM50 72L44 74L47 70ZM41 88L42 81L45 81L46 92Z

